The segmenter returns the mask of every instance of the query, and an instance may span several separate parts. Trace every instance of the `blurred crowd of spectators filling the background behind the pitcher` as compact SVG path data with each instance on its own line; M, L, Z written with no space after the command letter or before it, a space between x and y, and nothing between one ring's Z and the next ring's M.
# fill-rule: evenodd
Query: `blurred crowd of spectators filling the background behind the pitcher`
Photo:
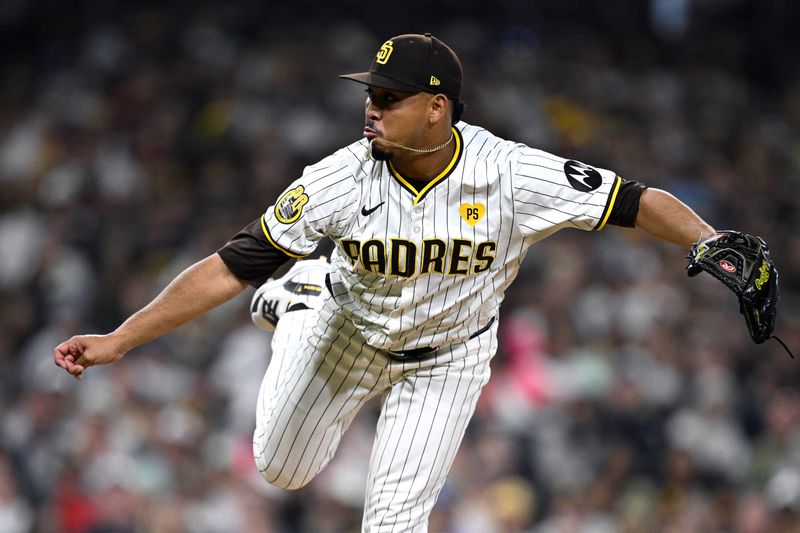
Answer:
M359 530L377 405L308 487L256 471L252 291L82 382L52 351L358 139L336 76L398 33L459 53L466 121L764 237L800 352L792 2L134 4L0 8L0 532ZM431 532L800 531L800 363L685 253L619 228L530 250Z

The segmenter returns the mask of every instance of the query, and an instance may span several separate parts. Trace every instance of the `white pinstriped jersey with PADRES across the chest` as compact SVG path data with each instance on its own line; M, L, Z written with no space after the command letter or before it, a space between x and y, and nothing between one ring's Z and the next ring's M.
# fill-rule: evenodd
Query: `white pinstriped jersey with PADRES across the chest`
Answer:
M362 139L305 169L262 217L291 256L336 243L331 289L372 346L464 341L498 313L528 247L599 230L621 179L460 122L456 152L417 190Z

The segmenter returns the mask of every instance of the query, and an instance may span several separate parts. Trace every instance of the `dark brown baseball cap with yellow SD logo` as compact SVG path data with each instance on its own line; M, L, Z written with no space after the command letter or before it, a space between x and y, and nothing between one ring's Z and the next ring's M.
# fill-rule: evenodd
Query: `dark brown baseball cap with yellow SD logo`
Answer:
M449 46L426 33L392 37L381 45L367 72L340 78L396 91L444 94L461 99L461 62Z

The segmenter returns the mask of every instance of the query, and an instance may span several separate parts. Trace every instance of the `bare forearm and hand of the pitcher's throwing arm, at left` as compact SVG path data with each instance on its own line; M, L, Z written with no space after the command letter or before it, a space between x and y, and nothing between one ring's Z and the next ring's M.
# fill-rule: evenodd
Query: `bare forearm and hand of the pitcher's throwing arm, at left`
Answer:
M212 254L181 272L152 302L106 335L76 335L55 348L55 363L78 379L93 365L118 361L241 293L247 283Z

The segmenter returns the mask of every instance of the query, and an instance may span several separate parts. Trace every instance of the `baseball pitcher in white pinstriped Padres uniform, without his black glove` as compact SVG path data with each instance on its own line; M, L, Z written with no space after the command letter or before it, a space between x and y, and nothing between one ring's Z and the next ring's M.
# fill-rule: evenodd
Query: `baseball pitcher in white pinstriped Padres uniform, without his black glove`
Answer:
M430 34L393 37L368 71L342 77L366 88L362 139L307 167L116 331L73 337L55 360L81 378L259 287L254 320L275 330L253 440L263 477L309 483L380 397L363 530L426 531L528 248L562 228L609 224L686 250L716 233L664 191L461 121L461 63ZM270 281L323 237L335 243L330 263L298 261Z

